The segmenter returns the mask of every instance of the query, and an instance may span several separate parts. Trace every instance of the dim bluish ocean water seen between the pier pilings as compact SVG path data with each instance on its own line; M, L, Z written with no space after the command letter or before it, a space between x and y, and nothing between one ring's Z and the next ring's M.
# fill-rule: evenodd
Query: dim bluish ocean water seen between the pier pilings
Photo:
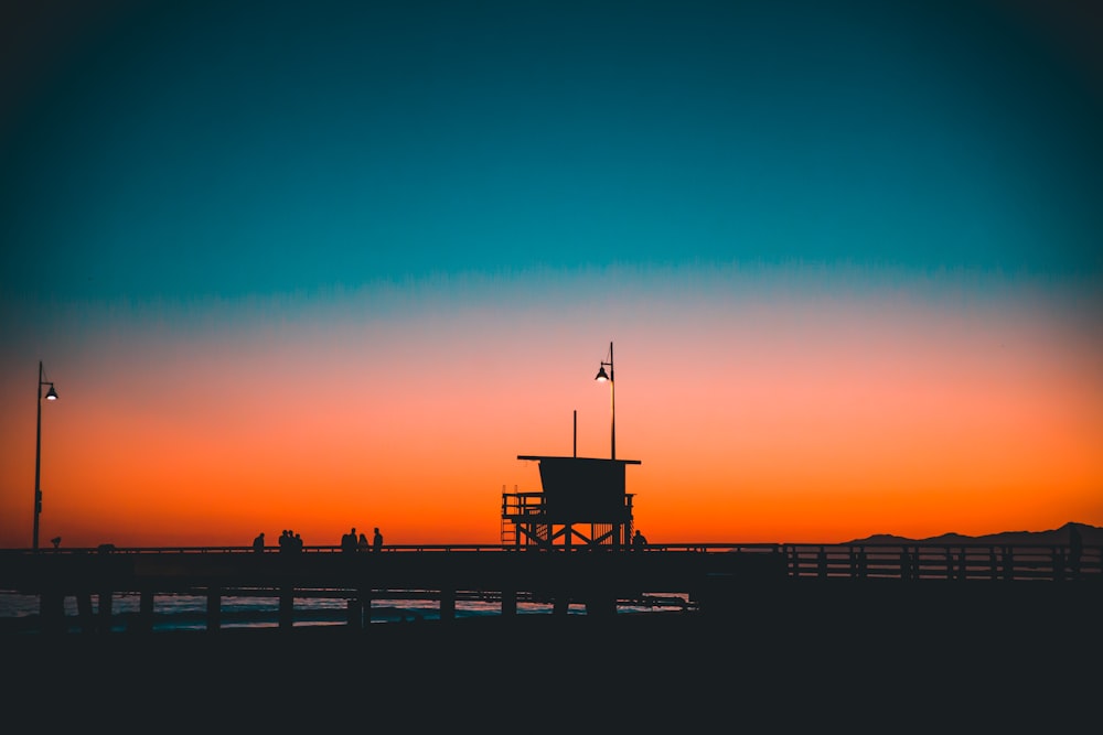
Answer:
M437 599L418 598L417 593L379 592L372 599L373 624L401 623L440 619L440 603ZM111 628L125 631L137 618L140 597L138 594L116 593L111 596ZM64 598L66 625L69 630L81 629L77 601L73 596ZM619 613L674 612L686 609L689 602L685 596L664 595L644 597L640 604L621 605ZM205 595L163 594L153 596L153 630L203 630L206 628L207 599ZM92 597L93 613L98 613L99 598ZM553 605L545 602L517 601L518 615L549 615ZM568 615L585 615L586 607L571 604ZM460 595L456 601L456 617L496 616L502 614L497 599L479 598L476 595ZM0 630L34 629L39 616L38 595L0 592ZM344 593L320 591L317 596L295 598L295 626L345 625L347 623L347 599ZM222 628L268 628L279 625L279 597L275 594L224 594L221 601Z

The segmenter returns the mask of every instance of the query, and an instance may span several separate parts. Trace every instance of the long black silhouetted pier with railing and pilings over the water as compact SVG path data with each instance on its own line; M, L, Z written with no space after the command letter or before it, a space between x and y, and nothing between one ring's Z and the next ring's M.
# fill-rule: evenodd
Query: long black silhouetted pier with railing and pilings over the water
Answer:
M747 615L753 607L821 601L834 610L906 596L959 604L1004 604L1080 595L1103 599L1103 548L1086 545L1079 559L1061 545L985 543L914 544L650 544L627 548L534 549L514 545L396 545L382 551L307 547L114 548L0 552L0 590L38 595L36 629L73 627L64 601L77 603L77 627L118 627L113 599L137 595L126 629L149 631L160 595L206 598L204 626L223 627L223 602L279 598L278 627L297 619L296 599L344 601L344 624L368 626L373 602L432 601L439 619L456 619L461 599L491 601L501 617L517 616L518 602L539 602L565 615L609 617L627 606L670 607L707 619ZM829 602L824 602L828 601ZM645 613L644 613L645 614Z

